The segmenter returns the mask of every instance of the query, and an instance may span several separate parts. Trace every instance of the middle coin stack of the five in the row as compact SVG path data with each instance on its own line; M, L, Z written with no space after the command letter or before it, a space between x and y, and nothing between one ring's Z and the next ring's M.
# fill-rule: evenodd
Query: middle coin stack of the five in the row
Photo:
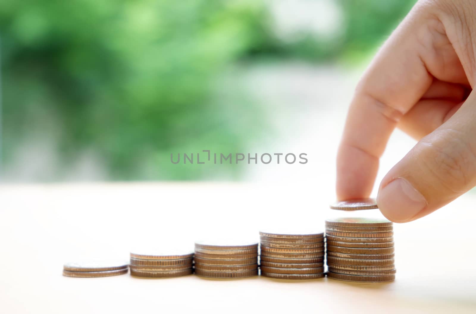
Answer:
M195 243L195 275L209 278L258 275L258 243Z

